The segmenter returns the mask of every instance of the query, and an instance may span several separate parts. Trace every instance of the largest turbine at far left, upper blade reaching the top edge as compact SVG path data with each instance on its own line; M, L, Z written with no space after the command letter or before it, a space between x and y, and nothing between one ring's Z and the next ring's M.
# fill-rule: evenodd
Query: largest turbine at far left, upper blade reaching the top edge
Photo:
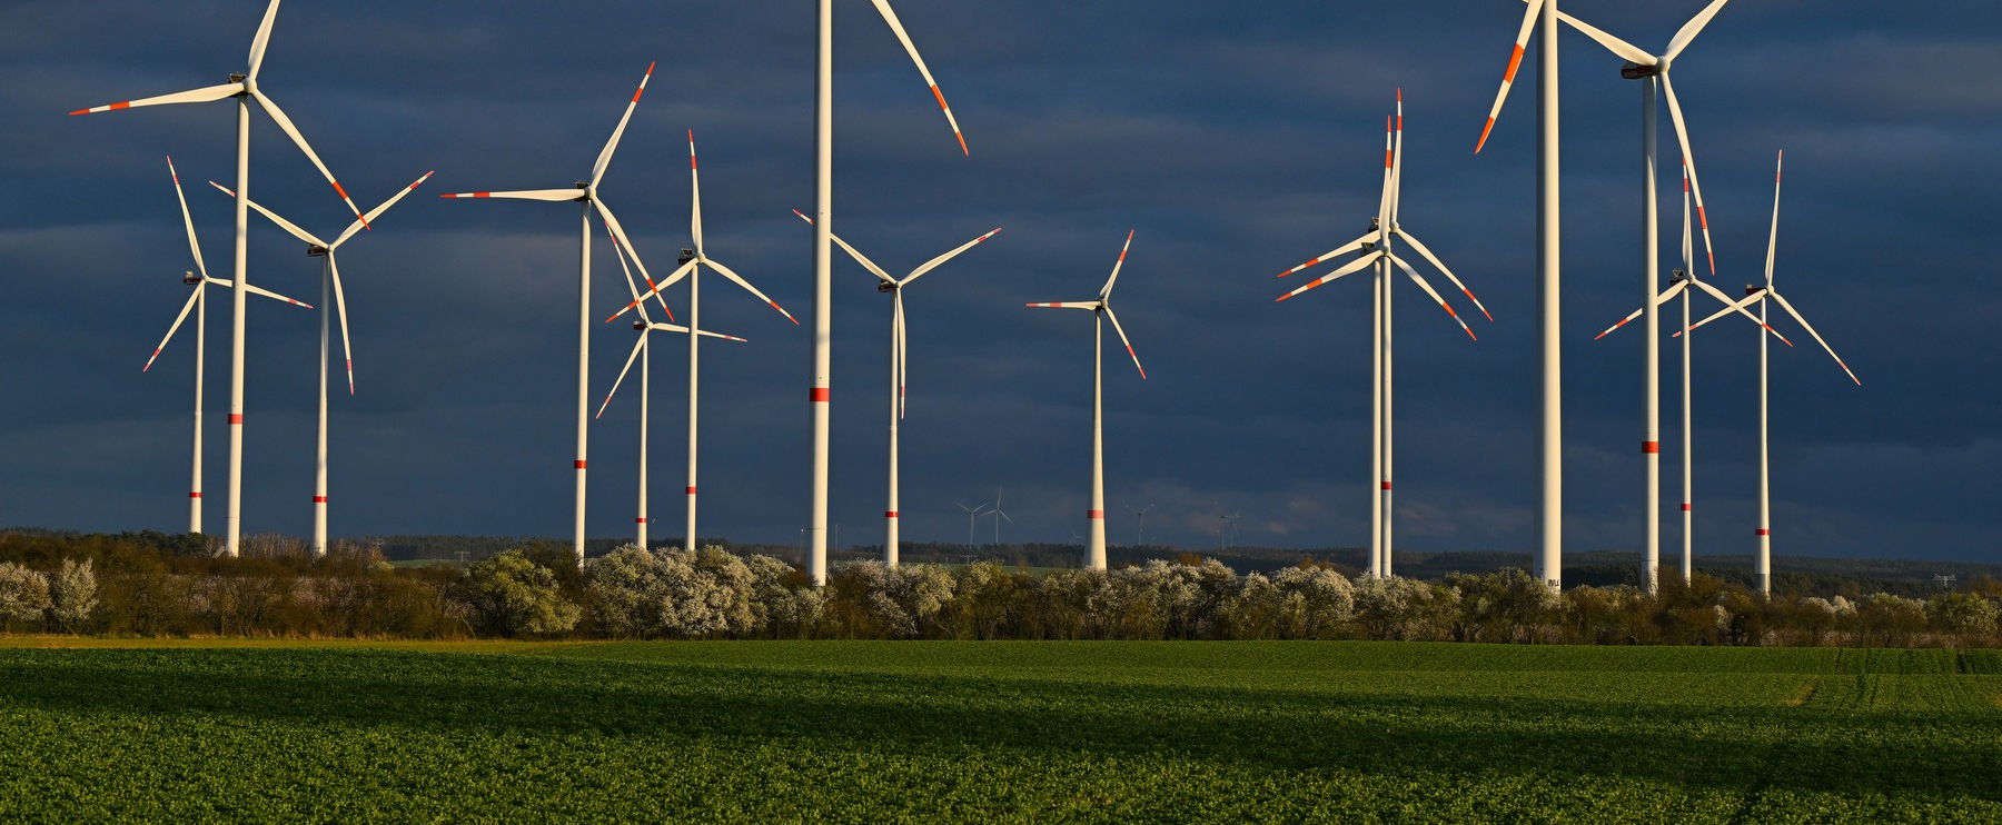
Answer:
M354 206L354 198L348 190L340 188L340 180L334 180L334 172L326 170L320 156L312 152L306 144L306 136L298 134L298 126L292 126L292 118L278 108L262 88L258 88L256 76L264 68L264 48L270 46L270 28L278 20L278 2L270 0L264 6L264 20L258 24L256 34L250 38L250 68L240 74L230 74L230 82L218 86L202 86L186 92L160 94L154 98L124 100L104 106L80 108L70 114L92 114L92 112L112 112L120 108L138 106L164 106L164 104L192 104L192 102L212 102L222 98L236 98L236 274L230 280L234 284L230 294L230 493L228 493L228 515L224 517L224 553L230 557L238 551L238 539L242 537L242 469L244 469L244 304L250 296L250 272L248 272L248 202L250 202L250 100L256 98L264 114L270 116L278 130L282 130L298 150L312 160L312 166L320 170L326 182L334 184L334 192L340 200L348 204L348 210L360 218L362 210ZM362 222L366 226L366 220Z

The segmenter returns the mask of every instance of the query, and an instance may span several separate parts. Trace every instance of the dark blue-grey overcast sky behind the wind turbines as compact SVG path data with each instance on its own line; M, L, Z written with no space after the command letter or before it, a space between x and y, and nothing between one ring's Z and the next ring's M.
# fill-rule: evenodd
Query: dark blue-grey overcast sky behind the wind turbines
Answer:
M140 364L190 268L166 176L188 184L208 266L230 270L226 102L74 108L224 82L260 0L0 8L0 525L180 529L192 336ZM438 200L589 176L659 60L603 192L655 272L687 242L685 130L701 144L711 256L811 318L813 6L795 2L324 2L278 14L262 86L362 202L438 174L342 248L358 394L334 396L332 531L569 535L577 218L571 204ZM1471 154L1520 6L1009 0L899 4L971 144L869 4L837 6L837 232L903 272L1005 230L907 294L905 539L963 539L953 499L1005 487L1005 539L1083 531L1091 324L1029 300L1087 298L1127 228L1115 306L1141 358L1107 356L1107 509L1157 505L1161 541L1363 545L1369 290L1275 304L1273 272L1367 228L1383 114L1405 92L1401 220L1481 294L1479 342L1409 284L1397 302L1399 547L1536 541L1536 60ZM1702 2L1566 8L1660 50ZM1814 350L1772 366L1774 551L1994 559L1994 316L2002 238L1992 146L2002 60L1986 4L1740 0L1676 62L1720 274L1758 280L1774 152L1786 150L1778 284L1862 376ZM1566 543L1640 541L1636 306L1640 88L1566 32ZM1534 48L1532 48L1534 54ZM1680 204L1664 116L1664 244ZM312 232L344 206L262 116L252 194ZM625 284L597 240L593 312ZM316 262L252 216L252 282L314 300ZM1664 268L1670 254L1664 254ZM835 266L835 521L881 541L889 300ZM1321 268L1325 270L1325 268ZM679 292L679 290L677 290ZM228 296L214 294L208 523L222 525ZM797 541L807 517L811 330L721 278L703 348L703 533ZM677 312L687 304L675 300ZM1463 314L1471 306L1461 306ZM627 324L593 330L593 394ZM316 314L250 310L246 531L306 533ZM1676 547L1676 346L1664 346L1664 525ZM1696 338L1698 553L1748 553L1756 336ZM1113 348L1117 352L1117 348ZM685 346L657 338L653 517L679 535ZM591 533L627 535L637 386L591 431ZM985 531L985 529L983 529ZM1784 565L1784 563L1782 563Z

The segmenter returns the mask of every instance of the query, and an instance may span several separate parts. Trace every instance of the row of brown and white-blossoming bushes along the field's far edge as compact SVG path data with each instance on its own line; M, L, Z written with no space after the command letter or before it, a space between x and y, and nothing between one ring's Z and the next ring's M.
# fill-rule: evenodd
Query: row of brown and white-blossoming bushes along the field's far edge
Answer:
M1435 581L1303 561L1235 573L1181 555L1111 571L791 563L723 547L613 549L581 569L527 543L464 569L378 547L284 543L222 559L200 537L0 533L0 631L372 639L1411 639L1586 645L2002 645L2002 583L1928 599L1760 597L1698 573L1552 593L1522 571ZM268 545L268 547L266 547Z

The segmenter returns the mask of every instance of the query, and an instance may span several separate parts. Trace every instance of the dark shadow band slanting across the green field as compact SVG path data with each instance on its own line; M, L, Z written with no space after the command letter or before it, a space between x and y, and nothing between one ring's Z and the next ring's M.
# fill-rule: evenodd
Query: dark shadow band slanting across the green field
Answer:
M2002 713L1710 711L1696 697L1365 697L388 651L0 651L0 705L150 725L224 715L416 735L789 739L2002 799Z

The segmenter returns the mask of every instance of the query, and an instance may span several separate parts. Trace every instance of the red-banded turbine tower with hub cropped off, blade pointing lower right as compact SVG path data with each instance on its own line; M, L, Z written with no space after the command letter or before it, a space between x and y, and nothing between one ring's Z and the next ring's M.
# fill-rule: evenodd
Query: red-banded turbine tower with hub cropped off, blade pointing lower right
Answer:
M917 74L931 86L931 96L945 112L945 124L959 138L959 152L967 150L967 138L959 132L953 108L945 104L937 80L925 68L925 58L917 54L917 44L903 30L889 0L871 0L891 34L911 54ZM813 384L807 402L813 408L813 469L811 495L807 505L807 575L815 585L827 583L827 439L831 421L831 372L833 372L833 230L835 230L835 0L819 0L817 8L817 60L813 64Z

